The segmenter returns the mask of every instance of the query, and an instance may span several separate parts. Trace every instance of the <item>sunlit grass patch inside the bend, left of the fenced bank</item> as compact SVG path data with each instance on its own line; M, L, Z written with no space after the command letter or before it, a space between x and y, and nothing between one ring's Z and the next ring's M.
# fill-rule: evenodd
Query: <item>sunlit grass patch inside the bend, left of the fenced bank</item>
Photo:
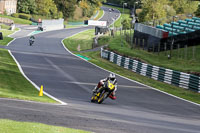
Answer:
M92 48L92 38L95 37L94 30L87 30L64 40L71 51L87 50ZM80 46L80 48L78 48Z

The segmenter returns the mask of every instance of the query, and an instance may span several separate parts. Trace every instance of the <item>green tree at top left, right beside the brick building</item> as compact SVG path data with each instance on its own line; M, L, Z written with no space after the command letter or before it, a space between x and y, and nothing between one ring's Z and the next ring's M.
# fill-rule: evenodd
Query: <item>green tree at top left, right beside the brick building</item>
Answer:
M36 2L35 0L18 0L17 11L26 14L36 14Z

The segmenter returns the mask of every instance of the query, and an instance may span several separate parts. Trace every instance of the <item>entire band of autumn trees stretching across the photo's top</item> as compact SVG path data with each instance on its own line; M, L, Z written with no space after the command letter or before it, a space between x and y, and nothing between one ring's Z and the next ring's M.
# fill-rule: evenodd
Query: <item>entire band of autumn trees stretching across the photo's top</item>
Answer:
M19 13L47 16L48 18L73 18L77 8L83 17L91 17L102 2L136 7L140 22L157 20L176 14L200 15L198 1L192 0L18 0ZM80 10L79 10L80 11Z

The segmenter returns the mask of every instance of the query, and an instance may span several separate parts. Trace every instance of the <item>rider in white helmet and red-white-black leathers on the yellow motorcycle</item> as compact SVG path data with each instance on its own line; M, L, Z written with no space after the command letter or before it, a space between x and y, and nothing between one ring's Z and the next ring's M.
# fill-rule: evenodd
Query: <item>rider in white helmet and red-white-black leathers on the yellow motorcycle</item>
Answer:
M115 85L114 91L109 96L111 99L115 100L117 98L116 95L115 95L116 91L117 91L117 80L115 78L114 73L110 73L107 78L100 80L98 85L94 88L93 93L97 93L99 88L101 88L104 85L104 83L107 82L108 80L112 81L112 83Z

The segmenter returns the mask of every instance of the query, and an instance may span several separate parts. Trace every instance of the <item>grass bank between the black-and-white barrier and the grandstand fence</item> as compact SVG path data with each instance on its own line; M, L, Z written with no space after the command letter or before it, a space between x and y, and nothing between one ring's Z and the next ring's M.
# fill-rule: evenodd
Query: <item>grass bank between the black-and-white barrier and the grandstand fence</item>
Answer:
M165 52L152 53L147 52L142 49L134 48L131 49L130 46L124 41L124 47L121 47L121 37L116 36L112 38L109 42L109 49L121 53L122 55L139 58L142 61L152 64L155 66L160 66L164 68L169 68L182 72L200 72L200 45L196 47L196 58L190 60L184 58L178 58L175 54L178 53L176 50L173 51L172 59L168 59ZM180 50L183 53L184 49ZM192 48L188 48L188 53L192 51ZM168 51L169 53L169 51ZM190 56L192 53L190 53Z

